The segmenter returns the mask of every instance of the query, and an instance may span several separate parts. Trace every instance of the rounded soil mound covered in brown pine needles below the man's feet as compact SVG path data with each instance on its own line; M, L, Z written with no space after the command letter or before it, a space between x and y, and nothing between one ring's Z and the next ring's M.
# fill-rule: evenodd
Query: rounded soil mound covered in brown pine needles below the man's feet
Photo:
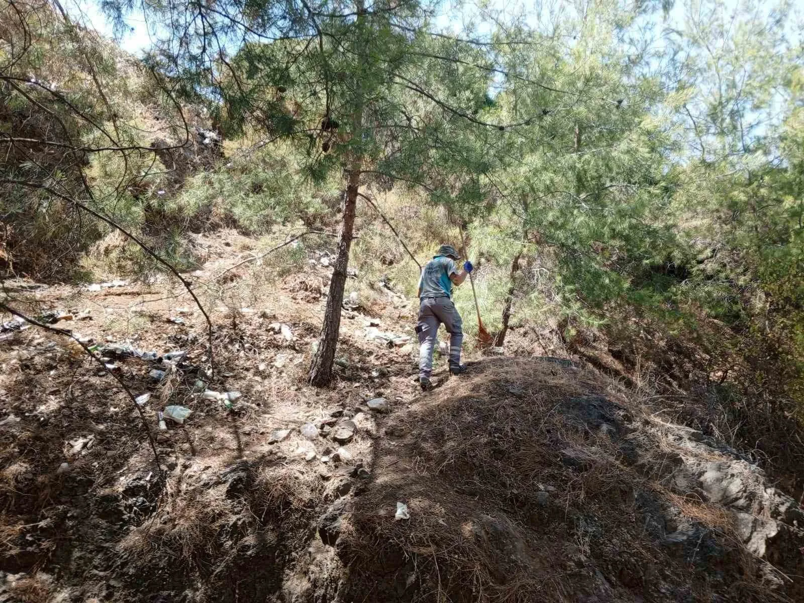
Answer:
M801 600L798 504L624 394L494 359L393 412L371 476L330 511L337 600Z

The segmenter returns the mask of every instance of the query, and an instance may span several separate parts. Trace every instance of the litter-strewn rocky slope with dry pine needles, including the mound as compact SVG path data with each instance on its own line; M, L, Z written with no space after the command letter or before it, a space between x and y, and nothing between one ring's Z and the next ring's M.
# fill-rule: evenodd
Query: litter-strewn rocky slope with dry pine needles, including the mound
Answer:
M165 282L6 283L139 403L64 336L0 334L0 601L804 599L798 503L662 400L522 342L422 395L415 306L357 273L310 388L330 262L259 277L250 245L188 275L212 378Z

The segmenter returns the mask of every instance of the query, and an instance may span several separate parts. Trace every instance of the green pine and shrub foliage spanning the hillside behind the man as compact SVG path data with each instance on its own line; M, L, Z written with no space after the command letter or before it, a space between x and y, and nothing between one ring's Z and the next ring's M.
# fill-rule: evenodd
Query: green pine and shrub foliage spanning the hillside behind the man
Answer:
M621 334L634 318L733 348L756 384L776 371L804 400L804 69L790 6L671 5L580 3L535 26L482 6L477 31L491 33L478 36L434 31L437 6L414 0L146 2L163 35L142 64L49 10L6 6L14 43L0 62L25 85L0 84L0 132L107 150L3 143L2 243L33 257L68 241L80 255L109 234L76 228L80 197L190 267L187 230L301 219L333 232L344 175L359 171L421 262L460 246L466 226L491 329L508 306L568 330ZM121 25L128 3L103 6ZM228 157L199 159L185 120L223 133ZM151 153L157 140L169 150ZM358 227L358 268L415 293L415 266L373 210ZM151 270L132 249L121 264ZM299 249L277 258L295 265ZM468 286L456 302L476 328ZM708 320L733 338L705 342Z

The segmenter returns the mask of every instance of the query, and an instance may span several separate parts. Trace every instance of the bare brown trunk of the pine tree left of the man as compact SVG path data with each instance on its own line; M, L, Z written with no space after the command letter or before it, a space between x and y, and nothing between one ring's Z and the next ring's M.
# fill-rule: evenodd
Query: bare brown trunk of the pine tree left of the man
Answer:
M355 165L347 180L347 192L343 195L343 222L338 239L338 257L335 259L330 292L326 297L326 311L324 324L321 329L321 338L318 340L318 350L313 356L310 366L310 384L322 387L332 379L332 364L335 359L335 350L338 347L338 332L341 328L341 304L343 304L343 290L347 283L347 266L349 265L349 250L351 249L352 234L355 230L355 209L357 207L357 191L360 186L360 166Z

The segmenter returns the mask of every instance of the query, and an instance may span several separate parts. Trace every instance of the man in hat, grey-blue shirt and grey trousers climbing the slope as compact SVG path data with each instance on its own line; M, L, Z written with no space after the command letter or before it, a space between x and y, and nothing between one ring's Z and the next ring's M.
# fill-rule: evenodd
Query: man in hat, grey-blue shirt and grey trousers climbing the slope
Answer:
M459 259L452 245L441 245L438 252L421 271L419 280L419 320L416 333L419 335L419 384L423 390L433 388L430 375L433 373L433 347L438 327L443 323L449 333L449 374L459 375L466 371L461 364L463 330L461 315L452 302L453 285L466 281L472 272L472 263L466 261L463 269L457 269Z

